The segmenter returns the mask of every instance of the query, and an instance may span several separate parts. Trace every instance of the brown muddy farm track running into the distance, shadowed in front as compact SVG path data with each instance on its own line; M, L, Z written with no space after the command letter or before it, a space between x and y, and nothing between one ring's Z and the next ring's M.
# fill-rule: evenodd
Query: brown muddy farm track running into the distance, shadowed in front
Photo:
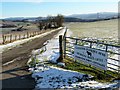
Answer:
M33 90L35 81L28 72L26 63L33 49L43 46L43 43L51 39L60 30L56 30L46 36L41 36L34 41L20 45L2 53L2 64L14 60L11 64L2 66L2 90Z

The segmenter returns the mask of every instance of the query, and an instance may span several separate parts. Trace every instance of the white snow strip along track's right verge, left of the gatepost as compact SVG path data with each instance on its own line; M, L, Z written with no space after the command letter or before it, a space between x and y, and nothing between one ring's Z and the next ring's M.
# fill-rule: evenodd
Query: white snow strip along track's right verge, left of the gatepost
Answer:
M41 49L34 50L32 52L33 55L35 55L35 58L39 60L39 62L43 61L51 61L53 63L56 63L56 60L59 58L59 35L64 35L65 28L62 29L57 35L55 35L51 40L48 40L45 42L44 48L46 50L40 54ZM30 62L32 59L30 59L28 62Z

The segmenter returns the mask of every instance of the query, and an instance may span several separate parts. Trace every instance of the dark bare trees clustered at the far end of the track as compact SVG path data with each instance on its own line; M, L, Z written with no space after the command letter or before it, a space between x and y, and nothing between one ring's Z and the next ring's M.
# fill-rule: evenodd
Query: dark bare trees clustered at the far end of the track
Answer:
M58 14L57 16L48 16L45 20L38 20L37 27L39 30L47 30L62 27L64 16Z

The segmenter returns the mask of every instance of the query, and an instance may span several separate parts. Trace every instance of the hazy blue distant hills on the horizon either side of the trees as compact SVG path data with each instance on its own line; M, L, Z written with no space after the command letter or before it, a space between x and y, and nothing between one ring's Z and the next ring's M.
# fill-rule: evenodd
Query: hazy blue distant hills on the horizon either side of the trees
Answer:
M118 13L113 12L101 12L101 13L90 13L90 14L73 14L64 17L65 22L92 22L98 20L109 20L118 18ZM3 20L9 21L37 21L46 20L46 17L13 17L5 18Z

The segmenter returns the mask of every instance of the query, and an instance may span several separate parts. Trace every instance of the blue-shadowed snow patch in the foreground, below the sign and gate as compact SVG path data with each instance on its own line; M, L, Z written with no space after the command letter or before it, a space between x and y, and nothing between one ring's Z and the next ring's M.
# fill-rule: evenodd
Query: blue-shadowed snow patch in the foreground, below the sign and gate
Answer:
M101 89L117 87L117 83L107 84L91 81L89 75L53 66L38 66L29 70L33 72L32 77L36 80L36 90L41 88Z

